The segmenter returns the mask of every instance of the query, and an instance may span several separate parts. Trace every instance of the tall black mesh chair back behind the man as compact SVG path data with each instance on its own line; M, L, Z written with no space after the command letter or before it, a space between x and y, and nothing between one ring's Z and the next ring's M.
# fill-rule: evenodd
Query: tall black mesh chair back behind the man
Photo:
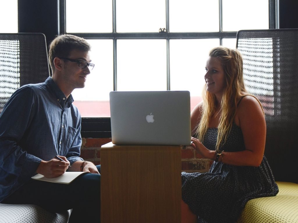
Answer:
M49 77L46 37L42 33L0 33L0 113L20 86Z

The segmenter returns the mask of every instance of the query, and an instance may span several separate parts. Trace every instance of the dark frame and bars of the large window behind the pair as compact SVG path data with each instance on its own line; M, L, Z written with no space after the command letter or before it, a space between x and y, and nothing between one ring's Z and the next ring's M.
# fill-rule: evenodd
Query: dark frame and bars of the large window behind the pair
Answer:
M168 32L169 24L169 0L166 2L166 32L116 32L116 0L112 0L113 8L113 32L111 33L69 33L85 39L112 39L113 40L113 90L117 91L117 40L121 39L164 39L167 45L167 90L170 90L170 40L173 39L205 39L216 38L222 45L223 38L236 38L237 32L222 31L222 0L219 2L219 31L218 32ZM278 0L268 0L269 29L278 28ZM60 0L58 4L59 23L58 32L66 33L66 0ZM82 118L81 135L84 138L111 138L110 118Z

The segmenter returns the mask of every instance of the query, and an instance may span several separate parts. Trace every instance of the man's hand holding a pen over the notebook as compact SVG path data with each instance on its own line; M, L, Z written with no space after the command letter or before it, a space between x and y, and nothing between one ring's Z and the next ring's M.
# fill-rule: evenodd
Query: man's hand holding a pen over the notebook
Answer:
M36 173L42 174L47 178L59 177L64 174L68 169L69 161L64 156L59 156L64 161L57 160L53 158L49 161L41 160L39 166L36 169Z

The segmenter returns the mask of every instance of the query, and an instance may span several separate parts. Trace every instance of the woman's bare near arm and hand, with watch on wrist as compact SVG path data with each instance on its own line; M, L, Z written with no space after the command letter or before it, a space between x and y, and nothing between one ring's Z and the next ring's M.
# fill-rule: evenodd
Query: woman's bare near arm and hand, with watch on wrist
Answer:
M265 141L266 141L266 122L263 110L252 96L246 96L238 106L235 117L243 133L245 150L240 152L224 152L223 163L235 166L260 166L262 162ZM194 148L205 158L214 159L215 152L207 149L200 141L192 138ZM219 161L221 161L220 156Z

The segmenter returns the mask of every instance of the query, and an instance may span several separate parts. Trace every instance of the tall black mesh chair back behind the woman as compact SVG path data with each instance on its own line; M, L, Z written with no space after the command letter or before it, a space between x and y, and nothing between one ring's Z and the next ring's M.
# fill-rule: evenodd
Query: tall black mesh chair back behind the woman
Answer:
M275 180L298 183L298 29L240 30L236 47L246 88L264 107Z

